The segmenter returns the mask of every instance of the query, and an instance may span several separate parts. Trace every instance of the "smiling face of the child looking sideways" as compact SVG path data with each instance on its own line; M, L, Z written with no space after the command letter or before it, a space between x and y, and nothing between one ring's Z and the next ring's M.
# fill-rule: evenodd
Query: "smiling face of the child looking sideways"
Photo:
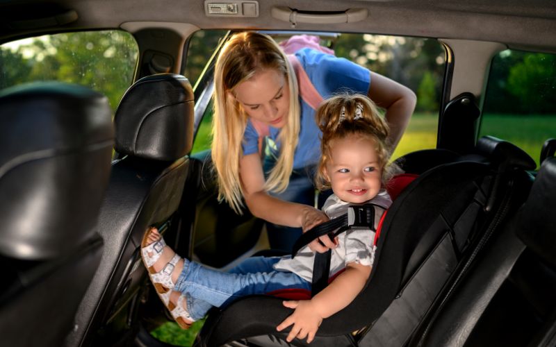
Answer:
M363 203L374 198L381 186L375 142L368 137L334 139L325 175L338 198L348 203Z

